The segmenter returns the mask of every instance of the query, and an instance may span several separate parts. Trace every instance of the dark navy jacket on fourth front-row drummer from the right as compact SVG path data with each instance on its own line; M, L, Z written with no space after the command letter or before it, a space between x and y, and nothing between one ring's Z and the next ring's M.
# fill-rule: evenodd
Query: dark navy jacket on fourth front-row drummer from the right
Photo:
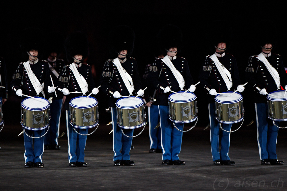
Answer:
M133 86L135 90L132 94L133 96L135 96L135 93L142 89L141 79L139 77L139 72L137 68L137 61L134 58L125 58L123 61L120 60L120 62L123 69L125 69L126 72L133 79ZM118 99L120 99L113 97L114 92L118 91L123 96L130 95L123 79L121 78L121 75L119 74L117 67L113 63L113 60L106 61L103 68L102 76L100 78L100 85L100 89L105 92L106 95L108 95L109 97L109 107L116 107L116 102Z

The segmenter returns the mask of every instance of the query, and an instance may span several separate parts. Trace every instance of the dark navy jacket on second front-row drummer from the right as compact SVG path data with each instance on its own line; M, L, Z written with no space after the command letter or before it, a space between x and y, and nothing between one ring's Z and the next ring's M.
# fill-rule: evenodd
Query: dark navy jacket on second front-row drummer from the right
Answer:
M232 79L232 87L231 90L236 90L237 86L240 85L239 73L237 68L237 62L234 56L231 54L223 53L218 54L216 56L219 62L230 72ZM198 86L203 88L205 92L208 94L208 103L214 103L215 96L209 94L209 91L206 89L215 89L216 92L226 92L228 91L226 84L220 75L214 61L210 56L206 56L203 61L203 65L201 67L199 73L199 81Z

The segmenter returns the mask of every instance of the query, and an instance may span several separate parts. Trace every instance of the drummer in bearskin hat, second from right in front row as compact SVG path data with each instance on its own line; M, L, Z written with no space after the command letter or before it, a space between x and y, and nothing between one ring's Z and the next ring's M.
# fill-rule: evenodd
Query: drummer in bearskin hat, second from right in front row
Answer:
M218 26L219 27L219 26ZM199 87L207 93L208 110L210 119L210 142L211 152L214 165L235 165L234 161L230 161L228 156L230 145L230 131L232 124L221 124L221 150L219 151L219 132L220 123L215 119L215 96L217 93L230 90L238 90L242 92L244 86L240 85L238 68L236 59L231 54L225 53L225 50L230 46L231 31L223 26L214 26L213 34L208 36L210 46L215 49L215 53L204 58L203 65L199 73Z

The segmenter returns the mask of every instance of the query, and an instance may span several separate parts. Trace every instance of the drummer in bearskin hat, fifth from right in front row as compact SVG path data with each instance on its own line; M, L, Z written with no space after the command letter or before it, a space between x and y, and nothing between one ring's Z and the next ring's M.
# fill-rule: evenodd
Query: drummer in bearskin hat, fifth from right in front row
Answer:
M83 33L73 32L66 38L64 46L67 60L71 65L64 66L62 72L60 72L57 81L57 90L61 90L66 96L64 104L66 110L69 166L83 167L87 166L87 163L84 160L84 150L88 129L77 129L77 132L82 135L73 130L73 126L69 123L69 102L75 97L82 95L87 96L90 92L97 94L99 90L95 88L91 67L88 64L82 63L82 60L88 56L87 37Z

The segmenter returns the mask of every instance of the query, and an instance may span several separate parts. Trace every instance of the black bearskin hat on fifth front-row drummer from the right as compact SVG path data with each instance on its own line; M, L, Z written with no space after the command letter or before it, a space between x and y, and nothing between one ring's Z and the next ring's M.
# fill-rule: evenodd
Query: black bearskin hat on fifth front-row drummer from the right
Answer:
M68 62L73 63L73 57L77 54L82 54L84 60L89 53L88 49L88 38L82 32L72 32L70 33L65 42L64 47L66 50L66 57Z

